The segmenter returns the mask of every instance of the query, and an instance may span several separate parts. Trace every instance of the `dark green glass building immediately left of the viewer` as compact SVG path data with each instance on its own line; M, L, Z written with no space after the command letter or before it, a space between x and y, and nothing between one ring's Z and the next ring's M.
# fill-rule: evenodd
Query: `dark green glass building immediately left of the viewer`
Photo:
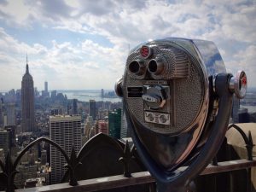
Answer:
M115 108L108 113L108 131L109 136L119 139L121 132L122 109Z

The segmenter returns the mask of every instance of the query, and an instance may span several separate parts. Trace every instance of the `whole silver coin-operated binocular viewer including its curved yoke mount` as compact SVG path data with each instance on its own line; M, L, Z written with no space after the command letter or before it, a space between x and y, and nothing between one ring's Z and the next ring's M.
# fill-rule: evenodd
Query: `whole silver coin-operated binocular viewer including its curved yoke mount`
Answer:
M226 73L212 42L166 38L131 50L115 90L158 191L188 190L224 140L233 93L246 89L246 73Z

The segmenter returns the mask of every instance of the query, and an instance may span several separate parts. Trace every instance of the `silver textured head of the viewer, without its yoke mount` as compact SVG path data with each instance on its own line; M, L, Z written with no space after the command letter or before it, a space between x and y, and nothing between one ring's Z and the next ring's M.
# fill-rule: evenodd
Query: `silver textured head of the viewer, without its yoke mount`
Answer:
M131 50L123 78L126 106L144 147L168 170L200 138L209 108L208 78L217 73L226 70L212 42L166 38Z

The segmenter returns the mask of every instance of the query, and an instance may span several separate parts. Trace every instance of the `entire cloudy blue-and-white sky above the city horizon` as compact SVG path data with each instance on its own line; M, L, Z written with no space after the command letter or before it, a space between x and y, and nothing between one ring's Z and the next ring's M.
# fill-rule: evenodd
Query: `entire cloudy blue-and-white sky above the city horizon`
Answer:
M129 49L148 40L213 41L229 73L256 87L256 1L0 0L0 90L110 89Z

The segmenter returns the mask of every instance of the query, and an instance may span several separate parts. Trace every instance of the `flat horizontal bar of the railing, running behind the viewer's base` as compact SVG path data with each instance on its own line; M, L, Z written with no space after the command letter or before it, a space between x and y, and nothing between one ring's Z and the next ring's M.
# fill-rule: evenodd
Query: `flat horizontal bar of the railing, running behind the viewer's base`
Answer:
M236 170L246 169L256 166L256 158L253 160L230 160L218 162L218 166L208 165L207 168L201 172L201 175L208 175L219 172L232 172ZM186 167L181 167L183 170ZM79 181L79 185L71 186L68 183L52 184L48 186L28 189L17 189L16 192L86 192L98 191L102 189L122 188L131 185L154 183L154 177L149 172L132 173L131 177L124 177L123 175L92 178Z

